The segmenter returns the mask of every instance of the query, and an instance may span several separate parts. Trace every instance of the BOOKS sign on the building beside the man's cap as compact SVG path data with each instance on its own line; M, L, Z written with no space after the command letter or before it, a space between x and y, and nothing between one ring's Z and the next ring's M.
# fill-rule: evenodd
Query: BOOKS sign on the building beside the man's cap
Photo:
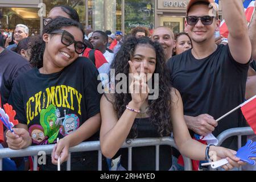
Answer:
M158 9L186 9L188 0L158 0Z

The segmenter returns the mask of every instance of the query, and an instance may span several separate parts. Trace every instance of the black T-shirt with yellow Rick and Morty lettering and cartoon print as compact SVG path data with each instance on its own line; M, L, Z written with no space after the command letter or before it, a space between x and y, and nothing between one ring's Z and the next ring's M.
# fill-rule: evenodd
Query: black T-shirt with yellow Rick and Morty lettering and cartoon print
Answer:
M56 143L57 138L73 133L100 113L97 86L101 82L97 77L92 62L79 57L60 72L44 75L34 68L16 78L9 103L17 113L16 119L28 126L33 145ZM98 133L89 140L99 140ZM72 156L85 158L87 169L97 169L97 151Z

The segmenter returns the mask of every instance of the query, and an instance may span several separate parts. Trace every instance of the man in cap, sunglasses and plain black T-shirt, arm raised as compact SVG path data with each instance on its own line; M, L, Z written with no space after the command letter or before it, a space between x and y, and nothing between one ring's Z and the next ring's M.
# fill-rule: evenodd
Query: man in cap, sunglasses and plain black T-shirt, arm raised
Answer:
M187 6L185 28L193 48L167 62L172 83L183 98L184 118L192 136L212 133L217 137L222 131L246 124L241 110L216 122L244 101L251 60L242 1L222 0L221 3L229 29L229 44L217 46L214 43L214 32L220 29L214 1L191 0ZM225 140L222 146L237 150L237 137Z

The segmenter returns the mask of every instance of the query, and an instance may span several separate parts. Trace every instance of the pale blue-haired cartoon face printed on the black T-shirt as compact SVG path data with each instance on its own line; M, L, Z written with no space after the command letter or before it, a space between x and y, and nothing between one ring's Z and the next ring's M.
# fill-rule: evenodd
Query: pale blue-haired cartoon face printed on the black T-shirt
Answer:
M69 135L79 128L79 117L76 114L67 114L63 121L63 129L60 129L62 135Z

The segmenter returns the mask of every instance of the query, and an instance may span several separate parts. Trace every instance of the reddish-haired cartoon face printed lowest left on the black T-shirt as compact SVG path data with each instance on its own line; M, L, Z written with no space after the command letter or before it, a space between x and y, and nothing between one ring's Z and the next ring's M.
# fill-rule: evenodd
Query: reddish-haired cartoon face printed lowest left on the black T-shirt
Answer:
M44 141L44 139L47 139L44 135L44 129L40 125L32 125L28 129L28 132L30 133L30 136L32 138L32 142L36 144L40 144Z

